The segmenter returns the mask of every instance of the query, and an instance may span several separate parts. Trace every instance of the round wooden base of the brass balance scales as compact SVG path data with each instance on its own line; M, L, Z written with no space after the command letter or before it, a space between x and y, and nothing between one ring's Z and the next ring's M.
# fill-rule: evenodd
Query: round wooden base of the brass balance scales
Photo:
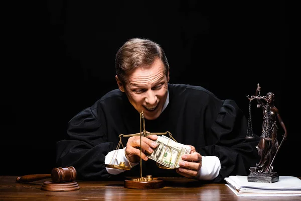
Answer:
M164 180L147 175L146 177L128 178L124 180L124 187L133 189L157 189L163 188Z

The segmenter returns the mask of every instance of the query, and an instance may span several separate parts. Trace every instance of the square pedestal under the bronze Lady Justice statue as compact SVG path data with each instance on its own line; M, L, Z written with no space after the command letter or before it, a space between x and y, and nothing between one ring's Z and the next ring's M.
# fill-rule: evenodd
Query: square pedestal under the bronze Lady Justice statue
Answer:
M250 167L251 173L248 176L249 182L259 182L259 183L274 183L279 180L279 175L277 172L266 173L260 172L260 168Z

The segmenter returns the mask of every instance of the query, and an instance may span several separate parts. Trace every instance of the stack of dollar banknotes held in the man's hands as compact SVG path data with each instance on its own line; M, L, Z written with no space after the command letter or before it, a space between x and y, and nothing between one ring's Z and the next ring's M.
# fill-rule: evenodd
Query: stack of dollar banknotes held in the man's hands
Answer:
M189 154L191 151L190 146L178 143L164 135L158 136L155 142L158 143L158 146L153 153L145 151L145 155L171 169L179 168L182 155Z

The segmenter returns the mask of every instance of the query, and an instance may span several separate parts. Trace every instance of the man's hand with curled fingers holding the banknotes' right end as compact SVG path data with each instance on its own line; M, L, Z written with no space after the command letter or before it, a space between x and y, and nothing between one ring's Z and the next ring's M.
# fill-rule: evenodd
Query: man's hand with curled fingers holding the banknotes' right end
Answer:
M202 167L202 156L196 151L194 146L189 146L191 147L190 154L184 154L182 156L180 168L176 171L187 178L194 178Z

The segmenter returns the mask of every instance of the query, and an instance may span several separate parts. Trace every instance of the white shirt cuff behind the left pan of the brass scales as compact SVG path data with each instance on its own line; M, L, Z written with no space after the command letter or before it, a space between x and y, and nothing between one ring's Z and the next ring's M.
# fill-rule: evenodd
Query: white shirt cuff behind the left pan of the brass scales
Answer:
M125 149L126 147L124 147L123 149L117 149L117 150L113 150L110 151L106 156L105 156L105 160L104 160L104 164L110 164L110 165L119 165L120 162L124 162L125 166L132 166L134 167L135 165L139 164L139 163L128 163L128 160L125 156ZM109 174L120 174L121 172L124 172L125 170L123 169L115 169L115 168L109 168L109 167L105 167L107 172Z

